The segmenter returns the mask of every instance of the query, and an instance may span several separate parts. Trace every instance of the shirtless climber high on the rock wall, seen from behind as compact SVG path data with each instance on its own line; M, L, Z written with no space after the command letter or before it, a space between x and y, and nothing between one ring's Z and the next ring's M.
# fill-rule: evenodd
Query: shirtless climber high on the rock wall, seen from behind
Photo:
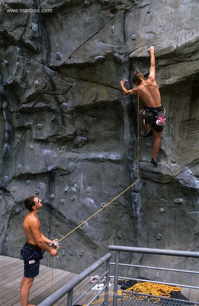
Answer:
M121 88L125 95L139 95L146 106L139 111L142 123L147 132L143 134L144 137L152 136L152 130L149 123L155 130L155 141L153 156L151 163L157 166L156 156L160 148L162 131L165 125L165 110L161 105L160 92L155 81L155 56L154 46L148 48L150 53L150 73L146 81L141 72L136 72L133 75L133 83L137 86L133 89L127 90L124 87L125 81L121 81Z

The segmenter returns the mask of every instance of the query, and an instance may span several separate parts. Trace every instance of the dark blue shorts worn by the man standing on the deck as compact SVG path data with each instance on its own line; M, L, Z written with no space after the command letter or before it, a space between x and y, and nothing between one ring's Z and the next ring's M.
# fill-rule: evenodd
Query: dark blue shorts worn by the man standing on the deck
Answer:
M24 276L25 277L35 277L39 274L39 260L42 257L42 250L34 250L27 248L26 246L22 249L22 258L23 260L33 261L33 263L24 264ZM37 259L37 260L35 260Z

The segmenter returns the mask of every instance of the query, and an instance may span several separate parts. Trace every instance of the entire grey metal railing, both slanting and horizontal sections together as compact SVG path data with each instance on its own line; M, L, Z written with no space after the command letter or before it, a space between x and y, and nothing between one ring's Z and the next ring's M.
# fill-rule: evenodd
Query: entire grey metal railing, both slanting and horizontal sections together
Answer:
M112 256L111 253L107 253L104 255L102 258L100 258L96 263L92 264L89 268L87 268L85 271L81 272L79 275L76 275L74 278L72 278L69 282L64 284L62 287L60 287L58 290L56 290L54 293L52 293L49 297L47 297L45 300L40 302L38 306L52 306L55 304L58 300L60 300L63 296L67 294L67 306L73 306L75 305L81 298L83 298L91 289L93 286L95 286L100 279L106 278L105 285L101 290L98 290L98 293L94 295L92 300L90 300L87 304L87 306L91 305L94 300L99 298L99 295L104 291L104 299L103 301L100 300L100 304L98 306L103 305L103 306L108 306L108 289L109 289L109 278L114 278L114 294L113 294L113 306L117 305L117 299L121 300L121 306L125 305L151 305L151 302L148 301L150 300L151 297L156 298L156 296L148 296L146 299L141 300L138 298L139 293L136 293L136 298L135 294L132 296L132 294L127 297L124 295L118 295L118 279L129 279L129 280L134 280L134 281L141 281L141 282L149 282L147 279L143 278L127 278L124 275L118 275L119 271L119 266L126 266L126 267L134 267L134 268L141 268L141 269L152 269L152 270L163 270L163 271L172 271L172 272L183 272L183 273L192 273L192 274L199 274L198 271L188 271L188 270L180 270L180 269L171 269L167 267L153 267L153 266L143 266L143 265L138 265L138 264L125 264L125 263L119 263L119 256L120 252L131 252L131 253L142 253L142 254L156 254L156 255L166 255L166 256L180 256L180 257L189 257L189 258L199 258L199 252L185 252L185 251L175 251L175 250L163 250L163 249L153 249L153 248L134 248L134 247L125 247L125 246L114 246L110 245L109 246L110 251L115 251L115 263L110 262L110 258ZM74 288L81 282L83 281L86 277L88 277L92 272L94 272L97 268L102 266L104 263L106 263L106 271L99 277L99 279L92 284L87 290L84 290L84 293L82 293L78 299L76 299L73 302L73 290ZM110 266L115 265L115 271L114 275L110 275ZM181 285L181 284L174 284L174 283L168 283L168 282L159 282L159 281L151 281L152 283L157 283L158 284L165 284L165 285L171 285L171 286L179 286L179 287L187 287L191 289L198 289L199 287L196 286L190 286L190 285ZM145 295L145 294L144 294ZM146 296L146 295L145 295ZM124 300L122 298L124 297ZM160 299L160 297L157 296L157 298ZM128 299L129 303L128 304ZM143 299L143 294L142 294L142 299ZM179 299L173 299L171 298L172 302L169 301L168 297L161 297L161 305L199 305L198 302L190 302L190 301L184 301L184 300L179 300ZM141 303L141 304L140 304ZM109 303L110 305L110 303Z

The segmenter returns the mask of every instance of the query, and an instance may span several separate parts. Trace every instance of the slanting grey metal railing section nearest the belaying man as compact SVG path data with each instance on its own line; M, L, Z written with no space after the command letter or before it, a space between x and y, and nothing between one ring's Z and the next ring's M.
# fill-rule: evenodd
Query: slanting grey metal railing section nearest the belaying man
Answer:
M76 275L74 278L70 280L70 282L67 282L63 286L61 286L58 290L56 290L54 293L49 295L45 300L43 300L41 303L39 303L37 306L52 306L55 304L60 298L62 298L64 295L67 294L67 306L73 306L75 305L79 300L81 300L82 297L84 297L93 286L95 286L100 279L105 277L105 285L104 287L92 298L92 300L89 301L87 306L91 305L92 302L99 297L99 295L104 291L104 301L100 305L108 305L108 286L109 286L109 269L110 269L110 258L112 254L107 253L103 257L101 257L98 261L96 261L94 264L92 264L90 267L88 267L86 270L81 272L80 274ZM83 281L86 277L88 277L92 272L94 272L97 268L102 266L104 263L106 263L106 271L100 276L100 278L92 284L87 290L84 290L84 293L82 293L78 299L76 299L73 302L73 289L75 286L77 286L81 281ZM99 305L99 306L100 306Z

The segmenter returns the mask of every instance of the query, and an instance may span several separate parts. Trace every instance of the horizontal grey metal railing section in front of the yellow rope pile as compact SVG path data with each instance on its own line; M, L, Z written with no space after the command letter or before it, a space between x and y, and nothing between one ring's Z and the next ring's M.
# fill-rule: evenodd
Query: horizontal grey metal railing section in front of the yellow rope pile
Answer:
M166 256L181 256L181 257L190 257L190 258L199 258L199 252L186 252L186 251L175 251L175 250L163 250L163 249L153 249L153 248L136 248L136 247L125 247L125 246L115 246L115 245L109 245L109 250L110 251L115 251L115 263L110 263L111 265L115 265L115 272L114 276L114 297L113 297L113 306L117 305L117 298L121 299L121 295L117 294L117 288L118 288L118 278L122 279L129 279L129 280L135 280L135 281L145 281L149 282L147 279L139 279L139 278L127 278L125 276L119 276L118 271L119 271L119 266L127 266L127 267L139 267L139 268L145 268L145 269L157 269L157 270L165 270L165 271L177 271L177 272L184 272L184 273L193 273L193 274L199 274L198 271L188 271L188 270L179 270L179 269L169 269L169 268L162 268L162 267L151 267L151 266L143 266L143 265L131 265L131 264L124 264L124 263L119 263L119 256L120 252L131 252L131 253L142 253L142 254L157 254L157 255L166 255ZM151 281L152 283L157 283L157 281ZM171 285L171 286L179 286L179 287L187 287L191 289L198 289L199 287L196 286L190 286L190 285L182 285L182 284L174 284L174 283L167 283L167 282L159 282L158 284L165 284L165 285ZM161 303L164 304L164 298L162 298ZM167 303L168 303L168 298L167 298ZM174 299L171 299L174 301ZM131 301L132 302L132 301ZM182 300L175 299L173 304L167 304L167 305L193 305L191 304L192 302L185 302L185 304L182 304ZM139 301L140 303L140 301ZM194 305L199 305L198 302L193 302ZM122 304L122 303L121 303ZM125 303L124 303L125 304ZM134 301L134 304L136 302ZM149 302L142 301L142 305L148 305L150 304ZM128 305L128 304L126 304Z

